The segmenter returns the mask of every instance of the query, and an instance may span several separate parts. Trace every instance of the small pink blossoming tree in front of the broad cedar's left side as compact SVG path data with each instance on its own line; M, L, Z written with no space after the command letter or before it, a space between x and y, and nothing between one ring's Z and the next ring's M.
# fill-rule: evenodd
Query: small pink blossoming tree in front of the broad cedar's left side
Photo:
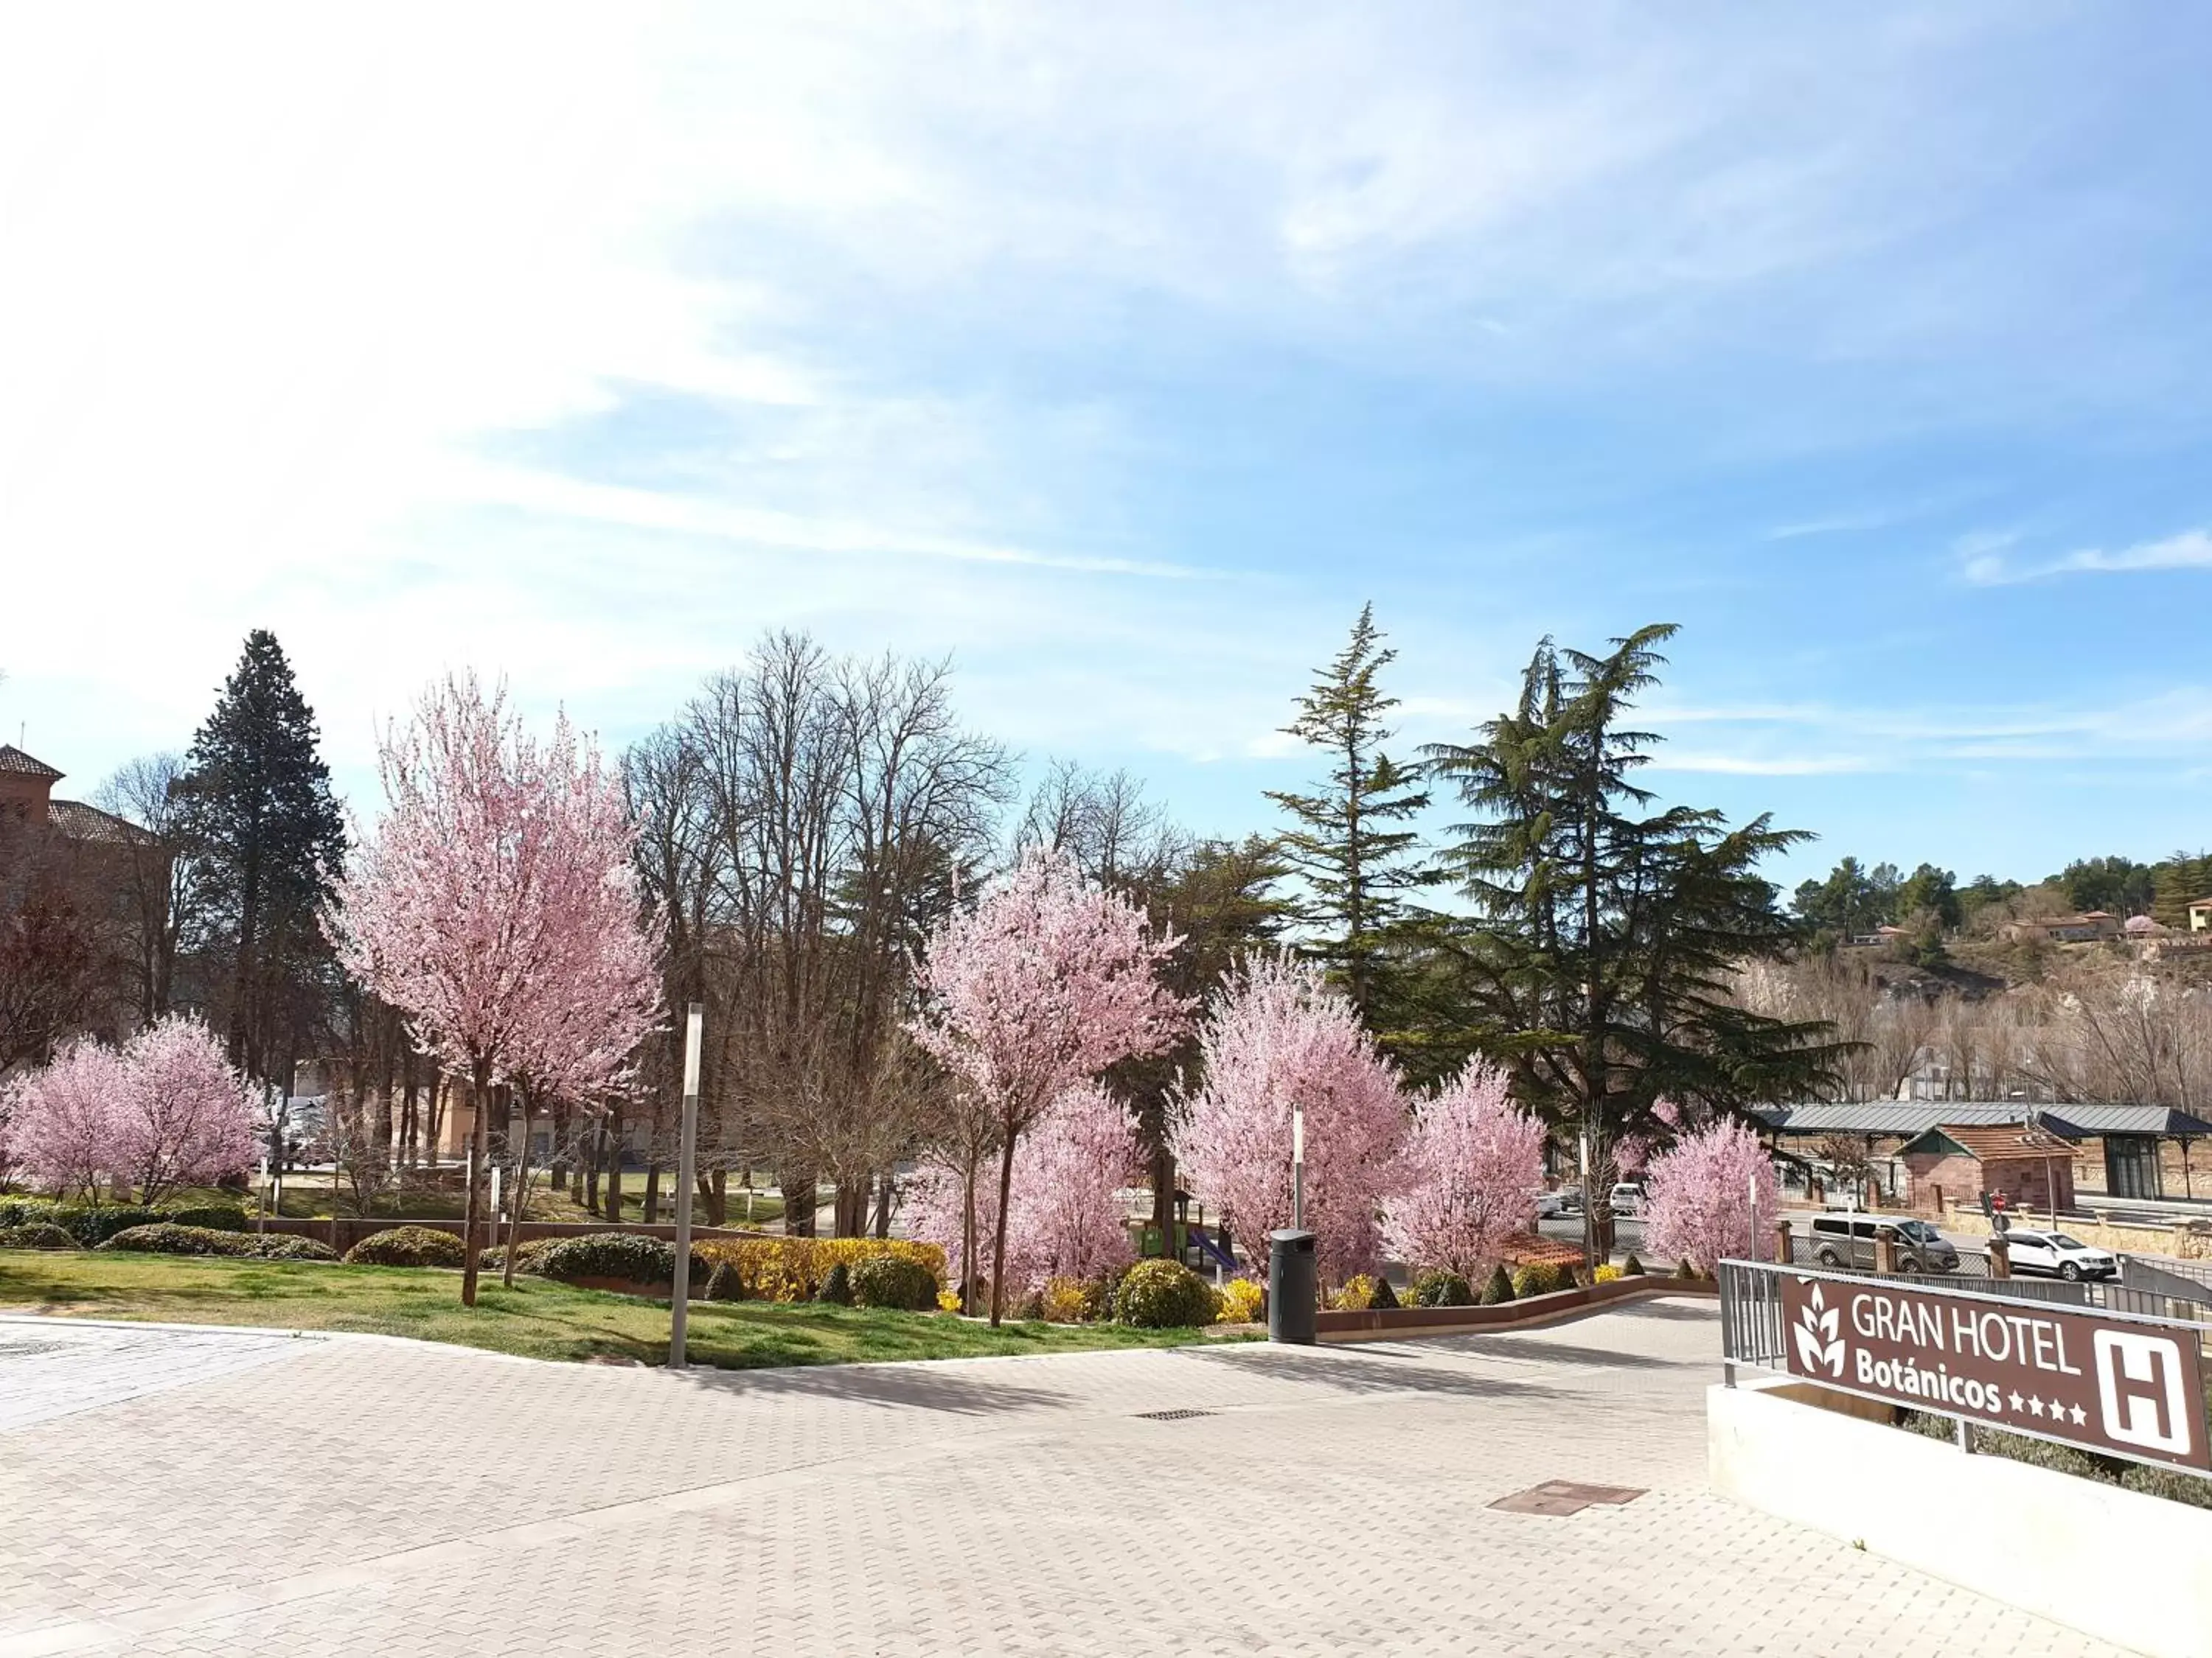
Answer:
M1413 1105L1402 1169L1402 1185L1383 1207L1389 1253L1475 1278L1535 1222L1544 1125L1513 1105L1504 1072L1469 1063Z

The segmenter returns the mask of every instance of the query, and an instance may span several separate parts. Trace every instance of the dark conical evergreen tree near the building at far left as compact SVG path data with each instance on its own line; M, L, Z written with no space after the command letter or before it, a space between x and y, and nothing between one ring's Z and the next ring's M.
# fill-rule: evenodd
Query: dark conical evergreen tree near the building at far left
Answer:
M254 628L181 785L184 844L208 900L204 999L232 1063L281 1085L325 1021L332 979L316 911L345 820L319 743L283 646Z

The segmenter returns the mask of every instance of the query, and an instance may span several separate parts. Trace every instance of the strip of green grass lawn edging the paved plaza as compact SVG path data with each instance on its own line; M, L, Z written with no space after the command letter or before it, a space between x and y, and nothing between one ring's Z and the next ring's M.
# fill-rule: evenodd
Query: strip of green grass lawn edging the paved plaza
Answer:
M374 1331L533 1360L659 1364L668 1357L666 1300L604 1295L542 1278L518 1278L513 1289L502 1289L498 1276L487 1276L471 1311L460 1304L460 1273L407 1267L0 1249L0 1311ZM1133 1331L1119 1324L1006 1324L993 1331L940 1313L858 1307L692 1302L690 1311L692 1364L721 1368L1079 1353L1199 1340L1208 1337L1201 1331Z

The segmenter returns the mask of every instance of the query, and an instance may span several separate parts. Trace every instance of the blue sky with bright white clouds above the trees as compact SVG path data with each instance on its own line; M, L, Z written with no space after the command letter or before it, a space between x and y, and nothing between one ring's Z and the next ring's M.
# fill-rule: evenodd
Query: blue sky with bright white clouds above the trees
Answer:
M64 9L42 9L62 13ZM2212 22L2150 4L0 22L0 732L250 626L619 743L770 626L1265 827L1683 623L1659 785L2035 878L2212 844ZM22 621L29 626L22 626Z

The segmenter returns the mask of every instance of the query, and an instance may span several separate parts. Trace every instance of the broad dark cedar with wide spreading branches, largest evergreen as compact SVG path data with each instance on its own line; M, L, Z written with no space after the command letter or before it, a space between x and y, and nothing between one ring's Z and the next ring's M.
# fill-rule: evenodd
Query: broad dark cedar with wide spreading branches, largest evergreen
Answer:
M1429 767L1478 816L1444 856L1473 915L1449 931L1460 1043L1604 1169L1621 1134L1663 1138L1659 1101L1730 1112L1803 1099L1840 1048L1820 1024L1736 1006L1734 968L1794 940L1759 862L1805 840L1754 818L1663 807L1637 785L1659 741L1626 725L1672 626L1606 657L1537 650L1520 705ZM1584 1205L1597 1247L1597 1194Z

